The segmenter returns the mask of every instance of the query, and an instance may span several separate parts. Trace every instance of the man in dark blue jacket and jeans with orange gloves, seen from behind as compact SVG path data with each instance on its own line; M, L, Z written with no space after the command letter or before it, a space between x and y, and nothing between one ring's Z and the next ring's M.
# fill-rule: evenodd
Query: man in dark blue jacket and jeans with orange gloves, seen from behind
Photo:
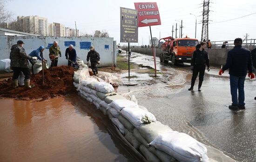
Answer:
M228 52L226 65L224 65L219 71L219 75L222 75L225 70L229 69L230 91L232 96L232 104L229 105L229 109L232 110L237 110L238 108L245 109L244 81L247 71L249 71L249 78L255 78L252 72L252 60L250 51L242 47L242 42L243 40L241 38L236 38L234 40L235 47Z

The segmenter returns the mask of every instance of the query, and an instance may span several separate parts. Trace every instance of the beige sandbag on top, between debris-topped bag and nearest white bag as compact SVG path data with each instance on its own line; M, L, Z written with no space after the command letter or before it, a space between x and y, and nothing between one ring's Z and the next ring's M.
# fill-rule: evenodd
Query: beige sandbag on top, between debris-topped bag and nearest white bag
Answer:
M158 121L150 124L141 124L141 126L138 127L138 130L141 136L147 140L148 143L151 143L160 134L173 131L170 127Z

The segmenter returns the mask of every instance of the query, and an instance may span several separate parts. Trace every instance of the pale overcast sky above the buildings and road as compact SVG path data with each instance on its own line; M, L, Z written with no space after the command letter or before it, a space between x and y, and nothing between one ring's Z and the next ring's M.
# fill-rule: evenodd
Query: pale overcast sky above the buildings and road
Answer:
M48 23L61 23L82 33L106 30L117 43L120 42L120 7L135 9L134 2L156 2L162 25L151 26L152 37L172 35L183 21L182 32L195 37L195 14L197 16L196 38L201 39L203 0L10 0L6 9L17 16L38 15L48 18ZM211 41L234 40L237 37L256 39L256 0L210 0L209 39ZM251 14L251 15L249 15ZM249 15L249 16L245 16ZM240 19L235 19L245 16ZM229 19L235 19L226 21ZM225 22L221 22L225 21ZM218 23L219 22L219 23ZM179 31L178 31L179 33ZM148 45L149 27L139 27L139 42L132 45ZM175 36L175 32L174 32Z

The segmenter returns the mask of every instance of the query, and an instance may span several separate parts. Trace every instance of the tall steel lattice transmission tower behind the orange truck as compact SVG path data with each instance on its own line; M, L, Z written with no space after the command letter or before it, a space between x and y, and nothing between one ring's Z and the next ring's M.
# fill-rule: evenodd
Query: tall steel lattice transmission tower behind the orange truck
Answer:
M203 0L201 41L203 41L203 39L205 39L205 41L209 40L209 37L208 37L209 3L210 3L210 0Z

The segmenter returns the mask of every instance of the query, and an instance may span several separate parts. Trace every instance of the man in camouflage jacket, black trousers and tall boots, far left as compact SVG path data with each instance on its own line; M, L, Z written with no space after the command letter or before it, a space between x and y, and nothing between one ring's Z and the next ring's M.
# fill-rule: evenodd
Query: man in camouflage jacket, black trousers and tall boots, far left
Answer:
M13 88L17 88L18 85L18 78L20 72L22 71L25 75L25 88L29 89L34 87L34 85L30 85L30 71L29 71L29 64L27 59L34 59L36 60L37 57L32 57L27 55L25 49L23 48L23 41L17 41L16 45L13 45L10 52L10 59L11 59L11 69L13 70L13 80L12 86Z

